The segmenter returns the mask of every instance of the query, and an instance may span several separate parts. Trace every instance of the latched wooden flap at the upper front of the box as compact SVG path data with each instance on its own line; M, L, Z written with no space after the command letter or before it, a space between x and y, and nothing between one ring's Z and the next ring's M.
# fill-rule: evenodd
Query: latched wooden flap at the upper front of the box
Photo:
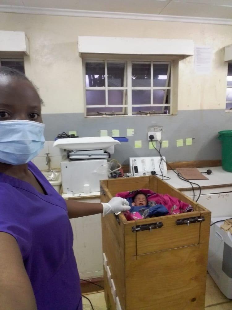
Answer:
M200 216L200 212L150 218L150 223L162 222L163 227L136 232L137 255L198 244L200 223L176 225L177 219L195 216ZM148 224L148 221L141 219L136 224Z

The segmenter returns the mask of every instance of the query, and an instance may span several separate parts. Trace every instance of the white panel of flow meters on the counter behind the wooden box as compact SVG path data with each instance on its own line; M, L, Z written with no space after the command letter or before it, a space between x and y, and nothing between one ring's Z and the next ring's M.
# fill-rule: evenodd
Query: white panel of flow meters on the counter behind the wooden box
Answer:
M166 161L165 157L163 157ZM130 157L130 173L133 176L151 175L151 171L158 174L167 172L167 165L161 161L160 156L155 157Z

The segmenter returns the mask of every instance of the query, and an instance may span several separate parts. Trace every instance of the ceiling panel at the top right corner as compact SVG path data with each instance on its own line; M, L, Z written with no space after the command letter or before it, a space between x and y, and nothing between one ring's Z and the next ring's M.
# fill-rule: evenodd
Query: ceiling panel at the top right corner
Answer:
M170 2L162 11L162 15L231 19L232 7L183 3L183 2Z

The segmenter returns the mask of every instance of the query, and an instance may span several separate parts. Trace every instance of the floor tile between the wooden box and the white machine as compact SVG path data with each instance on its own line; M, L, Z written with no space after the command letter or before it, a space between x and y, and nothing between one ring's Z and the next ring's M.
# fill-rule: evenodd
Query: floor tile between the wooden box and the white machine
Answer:
M206 293L205 293L205 307L223 302L229 302L230 299L226 298L219 290L217 284L213 281L209 274L206 277ZM211 310L211 308L209 308ZM232 307L231 307L232 309ZM231 310L230 309L230 310Z

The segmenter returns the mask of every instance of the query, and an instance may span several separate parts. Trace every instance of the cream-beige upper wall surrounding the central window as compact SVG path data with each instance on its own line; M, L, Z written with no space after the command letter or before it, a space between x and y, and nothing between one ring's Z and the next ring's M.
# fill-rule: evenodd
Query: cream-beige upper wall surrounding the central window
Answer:
M25 70L40 89L43 113L84 112L79 35L192 39L212 46L211 75L194 73L193 56L179 62L178 110L225 108L223 48L232 43L232 26L0 13L0 30L25 31L28 36Z

